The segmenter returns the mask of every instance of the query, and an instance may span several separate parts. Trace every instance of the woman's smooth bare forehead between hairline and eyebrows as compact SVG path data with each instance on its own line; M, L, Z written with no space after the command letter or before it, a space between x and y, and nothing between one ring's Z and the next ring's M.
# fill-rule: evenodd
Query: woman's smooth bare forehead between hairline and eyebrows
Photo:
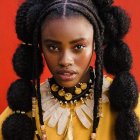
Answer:
M93 32L93 26L83 16L46 19L41 27L42 38L88 38Z

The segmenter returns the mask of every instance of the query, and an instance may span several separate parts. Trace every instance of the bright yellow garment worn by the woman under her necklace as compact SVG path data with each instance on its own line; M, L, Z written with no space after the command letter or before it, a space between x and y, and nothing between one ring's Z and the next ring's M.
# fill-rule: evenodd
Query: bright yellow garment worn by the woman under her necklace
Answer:
M116 114L111 112L109 102L108 103L103 103L102 111L103 111L104 117L100 119L100 122L99 122L99 125L98 125L98 128L97 128L97 138L96 138L96 140L115 140L114 122L115 122ZM140 118L140 98L139 98L138 105L135 109L135 112L136 112L137 116ZM3 121L11 113L12 113L12 111L9 109L9 107L7 107L6 110L0 116L0 130L1 130L1 126L2 126ZM36 122L37 122L38 130L40 130L38 115L36 115ZM90 140L90 134L92 132L92 127L90 129L84 128L76 115L74 115L72 117L72 122L73 122L73 125L74 125L74 129L73 129L74 130L74 140ZM45 124L46 123L47 122L45 122ZM47 126L47 124L46 124L46 126ZM40 131L39 131L39 134L40 134ZM47 140L65 140L64 135L59 136L57 134L57 128L56 127L55 128L50 128L50 127L47 126L46 134L47 134ZM3 140L1 131L0 131L0 140ZM35 137L34 140L37 140L37 138ZM139 137L138 140L140 140L140 137Z

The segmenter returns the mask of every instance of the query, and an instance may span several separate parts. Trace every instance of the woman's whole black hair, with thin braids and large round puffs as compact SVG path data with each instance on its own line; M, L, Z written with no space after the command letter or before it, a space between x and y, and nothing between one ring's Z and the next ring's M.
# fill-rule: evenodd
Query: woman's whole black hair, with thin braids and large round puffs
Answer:
M139 121L134 112L138 102L138 89L130 73L131 52L123 41L129 31L130 18L122 8L112 4L113 0L26 0L19 7L16 16L16 33L24 43L19 45L13 56L13 67L20 77L11 84L7 94L9 107L13 111L31 111L31 99L36 97L40 124L44 124L40 95L43 59L38 47L41 26L46 18L84 16L95 31L95 101L92 131L96 133L99 123L97 113L102 94L103 68L105 68L108 73L115 76L109 88L109 99L112 110L118 113L115 123L116 139L138 139ZM15 113L4 121L2 133L4 140L33 140L36 129L34 117L30 119L25 114ZM37 138L40 139L38 135Z

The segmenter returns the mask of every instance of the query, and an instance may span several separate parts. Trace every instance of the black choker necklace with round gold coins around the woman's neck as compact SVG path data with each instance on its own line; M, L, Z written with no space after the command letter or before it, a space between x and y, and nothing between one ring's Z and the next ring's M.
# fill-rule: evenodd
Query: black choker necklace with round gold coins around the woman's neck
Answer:
M62 102L76 102L77 100L83 100L93 93L93 82L90 79L88 83L79 83L75 86L74 93L67 92L64 87L59 86L53 78L49 79L50 89L53 96Z

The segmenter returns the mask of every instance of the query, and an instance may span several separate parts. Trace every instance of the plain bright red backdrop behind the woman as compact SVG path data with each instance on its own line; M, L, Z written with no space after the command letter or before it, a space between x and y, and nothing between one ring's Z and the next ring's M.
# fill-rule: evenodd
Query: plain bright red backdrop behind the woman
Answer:
M17 7L23 0L1 0L0 5L0 113L7 106L6 93L10 83L16 80L17 76L12 68L12 55L19 43L15 34L15 15ZM140 86L140 17L139 0L116 0L115 4L127 10L132 18L132 26L125 41L129 44L133 55L132 73ZM47 68L44 70L41 81L45 80L50 73Z

